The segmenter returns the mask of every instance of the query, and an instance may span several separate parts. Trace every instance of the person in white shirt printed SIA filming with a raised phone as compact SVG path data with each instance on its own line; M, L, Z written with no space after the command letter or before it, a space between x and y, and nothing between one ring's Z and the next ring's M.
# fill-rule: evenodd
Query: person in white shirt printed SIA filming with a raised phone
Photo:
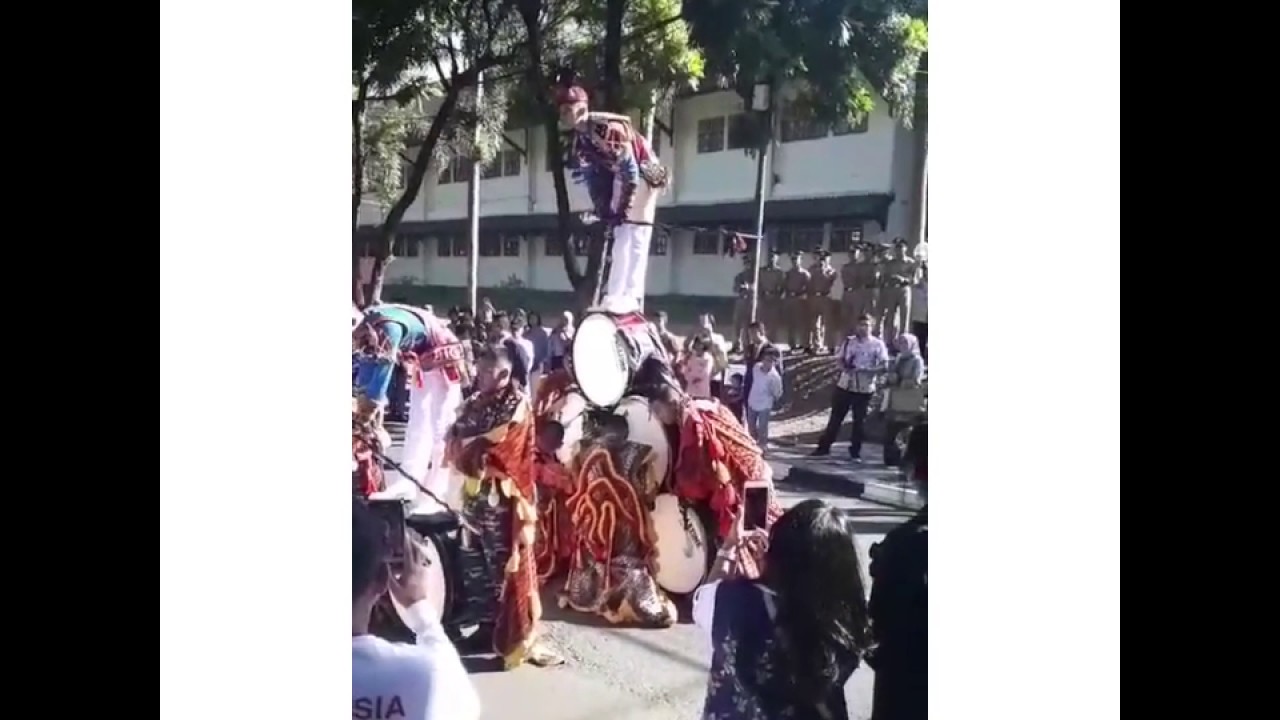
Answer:
M383 520L360 501L352 503L351 520L352 720L477 720L480 698L428 601L426 574L415 543L406 543L404 569L393 574ZM370 615L384 592L407 609L402 619L417 637L416 644L392 643L369 633Z

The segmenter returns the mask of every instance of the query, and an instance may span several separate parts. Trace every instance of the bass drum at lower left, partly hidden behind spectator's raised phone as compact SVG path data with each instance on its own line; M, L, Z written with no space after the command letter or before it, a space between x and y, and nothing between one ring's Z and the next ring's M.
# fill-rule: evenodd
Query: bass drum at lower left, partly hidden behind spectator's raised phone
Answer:
M453 632L457 626L456 609L461 605L462 577L458 564L458 520L453 515L410 515L404 520L410 542L417 547L426 566L426 601L440 623ZM385 593L374 606L369 632L392 642L415 641L413 632L404 623L406 609L392 593Z

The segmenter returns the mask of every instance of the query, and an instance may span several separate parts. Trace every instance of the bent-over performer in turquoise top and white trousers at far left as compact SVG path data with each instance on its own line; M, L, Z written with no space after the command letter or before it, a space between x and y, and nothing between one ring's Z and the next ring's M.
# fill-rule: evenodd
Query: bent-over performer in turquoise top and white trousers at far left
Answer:
M358 354L353 420L380 425L396 365L403 365L410 378L410 406L401 466L445 498L449 475L442 462L444 434L462 404L467 372L462 345L434 315L402 305L369 309L352 331L352 343Z

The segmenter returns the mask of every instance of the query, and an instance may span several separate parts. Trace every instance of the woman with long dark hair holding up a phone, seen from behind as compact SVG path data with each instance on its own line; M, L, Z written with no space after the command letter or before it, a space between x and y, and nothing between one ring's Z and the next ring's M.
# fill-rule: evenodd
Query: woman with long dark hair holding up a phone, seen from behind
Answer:
M714 646L703 717L849 717L845 683L870 646L852 523L806 500L773 524L759 580L727 577L762 538L740 520L694 594L694 621Z

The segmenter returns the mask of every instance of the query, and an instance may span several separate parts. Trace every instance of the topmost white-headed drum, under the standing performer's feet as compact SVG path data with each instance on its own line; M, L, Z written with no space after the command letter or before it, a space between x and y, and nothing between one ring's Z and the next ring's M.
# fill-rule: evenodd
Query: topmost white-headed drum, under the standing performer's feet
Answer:
M612 407L631 388L640 365L650 357L668 363L662 342L640 313L589 313L573 331L570 346L573 379L598 407Z

